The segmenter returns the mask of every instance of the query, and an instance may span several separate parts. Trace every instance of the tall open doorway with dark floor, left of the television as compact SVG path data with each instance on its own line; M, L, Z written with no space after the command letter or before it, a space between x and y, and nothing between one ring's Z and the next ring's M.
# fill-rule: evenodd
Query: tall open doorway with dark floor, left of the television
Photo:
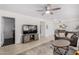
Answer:
M3 45L15 44L15 18L2 17Z

